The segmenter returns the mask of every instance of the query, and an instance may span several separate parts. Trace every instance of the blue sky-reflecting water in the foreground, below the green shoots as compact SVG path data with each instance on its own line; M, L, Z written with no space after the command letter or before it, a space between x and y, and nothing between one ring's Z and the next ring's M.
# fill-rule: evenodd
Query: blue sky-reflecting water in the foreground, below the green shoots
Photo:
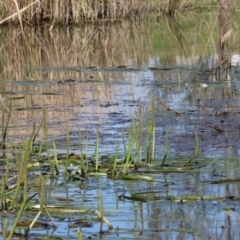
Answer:
M239 184L211 184L210 181L239 175L236 170L238 160L233 160L229 166L227 160L213 160L210 167L200 173L166 173L158 174L154 183L109 181L103 178L89 178L84 183L84 189L77 183L65 187L62 181L52 182L54 191L48 193L47 203L55 204L58 197L74 199L68 205L75 208L86 208L93 212L98 207L101 189L104 201L104 213L113 224L114 229L102 235L102 239L235 239L239 235L239 201L231 200L230 196L239 196ZM226 169L228 165L229 170ZM234 170L231 168L234 167ZM81 184L83 186L83 184ZM149 196L154 201L128 201L119 199L125 194L131 196ZM213 200L171 201L169 196L201 196L213 197ZM229 196L229 199L224 199ZM219 200L218 198L221 198ZM64 205L64 204L63 204ZM94 215L93 215L94 218ZM76 238L74 225L77 221L91 222L89 215L61 214L55 219L58 228L53 236ZM98 239L100 225L93 222L89 227L83 227L85 237ZM107 226L103 226L107 230ZM33 230L32 234L37 232ZM39 231L42 233L42 231ZM51 234L49 230L48 234Z

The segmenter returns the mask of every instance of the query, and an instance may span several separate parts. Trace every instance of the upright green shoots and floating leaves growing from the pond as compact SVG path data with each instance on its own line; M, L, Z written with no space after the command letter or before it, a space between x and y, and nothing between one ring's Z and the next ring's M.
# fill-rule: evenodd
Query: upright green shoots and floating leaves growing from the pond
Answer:
M14 157L9 157L6 154L6 167L5 175L2 177L1 181L1 210L13 211L15 214L14 220L9 224L5 221L3 226L3 236L5 239L11 239L18 228L25 228L25 236L27 236L34 226L41 226L42 219L40 215L46 213L48 219L51 221L51 227L55 227L52 217L55 214L88 214L90 219L92 219L91 214L97 215L97 221L100 222L100 234L103 233L102 225L106 223L108 226L107 231L111 231L113 228L112 224L108 221L105 216L103 203L104 199L102 193L98 192L98 206L97 210L89 211L90 209L76 208L73 206L62 206L58 205L57 201L54 204L48 203L47 188L49 188L50 179L61 179L64 181L66 186L70 183L84 182L90 177L94 176L105 176L109 179L118 179L122 181L141 181L141 182L155 182L156 173L171 173L171 172L195 172L197 169L203 167L203 164L192 164L192 159L198 161L198 135L196 133L196 148L194 156L189 160L174 161L173 159L168 159L168 164L165 164L166 157L164 161L159 161L155 159L155 134L156 134L156 109L157 105L155 103L155 98L152 98L150 104L151 109L143 112L143 108L139 107L138 117L132 117L129 128L122 129L122 144L124 144L124 159L119 162L122 153L119 153L118 144L115 143L115 153L113 154L113 161L106 165L106 163L101 159L100 152L100 134L98 127L96 128L96 138L95 138L95 151L92 157L87 157L90 154L89 150L89 139L88 133L86 132L85 142L82 141L81 134L79 133L79 149L80 156L73 156L71 154L71 139L70 132L68 130L68 125L66 124L66 138L65 138L65 151L66 156L60 156L57 153L58 143L53 135L52 138L48 136L47 127L47 110L43 108L42 110L42 120L38 128L33 124L33 130L30 137L21 144L15 145L13 151ZM9 107L9 109L11 109ZM3 114L3 113L2 113ZM146 116L145 118L143 116ZM179 117L181 117L179 115ZM8 124L4 125L6 129L9 128L10 115L8 119ZM7 127L6 127L7 126ZM39 142L36 143L37 136L39 134L40 128L42 129L42 139L38 139ZM4 131L7 131L4 129ZM80 132L80 131L79 131ZM6 140L6 139L5 139ZM53 151L50 153L50 146L52 145ZM85 146L86 145L86 146ZM45 156L43 155L45 152ZM84 151L86 151L84 153ZM140 152L143 152L140 153ZM146 154L146 159L142 159L142 156ZM168 155L168 136L166 135L165 140L165 156ZM74 157L74 158L73 158ZM89 162L91 162L89 164ZM14 177L10 178L10 174L14 169L10 168L10 163L16 168L14 171ZM83 170L82 172L75 172L72 170L72 165L75 164L75 169ZM42 165L47 165L47 173L44 173L41 168ZM89 165L90 166L89 166ZM204 162L206 164L206 162ZM56 174L52 168L56 169ZM31 169L35 168L40 171L39 175L31 175ZM108 171L110 170L110 171ZM81 184L80 184L81 185ZM167 192L167 200L174 203L177 198L175 198L170 190ZM132 196L120 196L121 199L128 199L131 201L155 201L157 200L156 195L148 194L144 196L143 194L132 194ZM182 197L181 201L189 197ZM59 201L70 202L71 199L59 198ZM194 199L195 200L195 199ZM82 197L84 202L84 196ZM28 211L28 221L24 215ZM32 217L29 218L29 213ZM50 215L51 214L51 215ZM9 226L10 225L10 226ZM10 230L8 230L10 229ZM77 233L78 239L82 239L82 231L79 230Z

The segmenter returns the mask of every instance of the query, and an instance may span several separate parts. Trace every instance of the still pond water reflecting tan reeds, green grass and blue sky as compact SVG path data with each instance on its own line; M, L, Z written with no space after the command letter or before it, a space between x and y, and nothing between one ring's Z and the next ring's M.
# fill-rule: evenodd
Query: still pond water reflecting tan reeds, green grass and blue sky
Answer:
M239 17L229 18L229 29L234 29ZM67 181L61 174L49 180L47 204L61 205L58 199L68 198L68 207L89 212L53 214L57 228L31 230L29 239L76 239L77 229L84 239L238 238L239 32L232 32L224 51L233 67L223 70L217 22L216 11L176 19L153 16L135 22L55 26L52 31L46 25L26 29L24 34L16 27L0 29L1 97L6 107L12 99L8 147L31 135L33 123L40 124L46 107L49 141L54 135L59 154L66 154L67 129L70 153L80 153L80 133L83 145L88 133L89 155L93 155L97 129L100 156L114 155L116 143L123 153L122 129L127 132L131 119L138 120L140 107L144 117L149 114L152 100L155 164L161 164L165 155L166 135L166 162L179 161L179 165L194 155L195 133L199 140L194 161L200 168L156 172L154 181L106 176ZM40 132L37 141L43 135ZM226 179L231 180L219 182ZM94 214L101 194L104 215L113 225L103 234ZM190 197L195 198L189 201ZM26 211L23 218L31 220L34 214ZM45 215L40 219L49 221Z

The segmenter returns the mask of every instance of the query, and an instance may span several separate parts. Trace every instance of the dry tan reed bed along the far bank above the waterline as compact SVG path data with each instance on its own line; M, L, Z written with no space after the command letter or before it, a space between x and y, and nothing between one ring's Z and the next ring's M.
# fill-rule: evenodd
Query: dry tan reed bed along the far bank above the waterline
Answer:
M0 12L9 21L42 23L43 21L79 23L82 21L117 20L136 17L150 12L173 15L176 11L209 6L215 0L83 0L83 1L1 1Z

